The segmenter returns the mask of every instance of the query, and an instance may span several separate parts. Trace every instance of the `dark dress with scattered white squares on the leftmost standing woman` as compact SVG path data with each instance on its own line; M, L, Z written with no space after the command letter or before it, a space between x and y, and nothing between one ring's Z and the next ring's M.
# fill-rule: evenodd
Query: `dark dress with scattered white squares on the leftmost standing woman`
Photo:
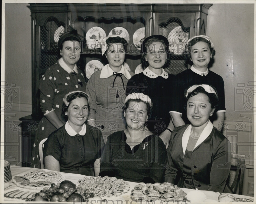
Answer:
M66 123L61 116L61 109L64 96L75 90L86 90L86 81L81 70L77 69L78 73L68 73L59 63L48 68L45 74L39 81L40 89L40 105L44 114L50 111L55 111L58 118ZM42 139L48 138L49 134L57 130L46 117L43 117L38 123L36 130L35 141L31 156L31 167L40 168L38 156L38 145Z

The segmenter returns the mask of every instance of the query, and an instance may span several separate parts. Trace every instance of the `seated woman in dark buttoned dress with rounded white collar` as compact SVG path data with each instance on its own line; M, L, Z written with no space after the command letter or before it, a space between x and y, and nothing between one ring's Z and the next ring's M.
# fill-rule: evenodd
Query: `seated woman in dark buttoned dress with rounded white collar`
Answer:
M45 142L45 168L98 176L104 141L100 130L84 123L89 114L88 95L73 91L63 101L62 114L68 121Z

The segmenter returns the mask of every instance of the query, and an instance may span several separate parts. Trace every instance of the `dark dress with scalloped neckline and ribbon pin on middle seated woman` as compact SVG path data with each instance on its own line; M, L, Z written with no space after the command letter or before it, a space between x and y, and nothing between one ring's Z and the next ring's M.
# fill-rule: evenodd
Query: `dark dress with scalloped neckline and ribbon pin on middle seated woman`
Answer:
M131 150L124 131L108 137L101 157L100 176L114 176L131 182L163 182L166 150L163 141L149 135Z

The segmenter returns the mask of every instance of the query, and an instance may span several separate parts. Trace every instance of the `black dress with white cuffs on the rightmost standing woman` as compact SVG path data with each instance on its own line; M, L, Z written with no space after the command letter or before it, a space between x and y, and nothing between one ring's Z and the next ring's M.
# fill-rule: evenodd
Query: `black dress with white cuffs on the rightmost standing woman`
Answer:
M219 103L216 107L215 112L218 110L225 110L225 92L224 92L224 81L222 77L212 71L209 70L209 73L206 76L199 75L195 72L193 72L191 69L187 69L175 76L175 83L174 83L174 90L175 90L175 100L172 100L172 110L175 112L179 112L182 114L182 119L185 122L185 124L190 123L187 119L186 114L186 105L187 100L184 97L184 91L189 86L195 85L195 84L208 84L212 85L216 88L218 97L219 97ZM213 116L213 120L214 120Z

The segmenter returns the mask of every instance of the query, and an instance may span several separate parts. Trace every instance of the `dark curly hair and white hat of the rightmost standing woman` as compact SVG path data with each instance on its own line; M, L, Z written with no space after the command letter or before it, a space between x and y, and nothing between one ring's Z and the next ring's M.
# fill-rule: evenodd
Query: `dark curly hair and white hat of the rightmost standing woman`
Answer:
M209 40L206 40L205 38L202 38L202 37L197 37L197 38L194 38L192 39L191 41L189 41L188 44L185 45L185 56L186 56L186 63L187 64L190 64L190 65L193 65L193 62L190 60L191 58L191 55L190 55L190 52L191 52L191 47L198 43L198 42L206 42L210 48L210 51L211 51L211 55L212 55L212 58L210 59L210 63L213 62L213 56L215 55L215 49L211 47L211 42Z

